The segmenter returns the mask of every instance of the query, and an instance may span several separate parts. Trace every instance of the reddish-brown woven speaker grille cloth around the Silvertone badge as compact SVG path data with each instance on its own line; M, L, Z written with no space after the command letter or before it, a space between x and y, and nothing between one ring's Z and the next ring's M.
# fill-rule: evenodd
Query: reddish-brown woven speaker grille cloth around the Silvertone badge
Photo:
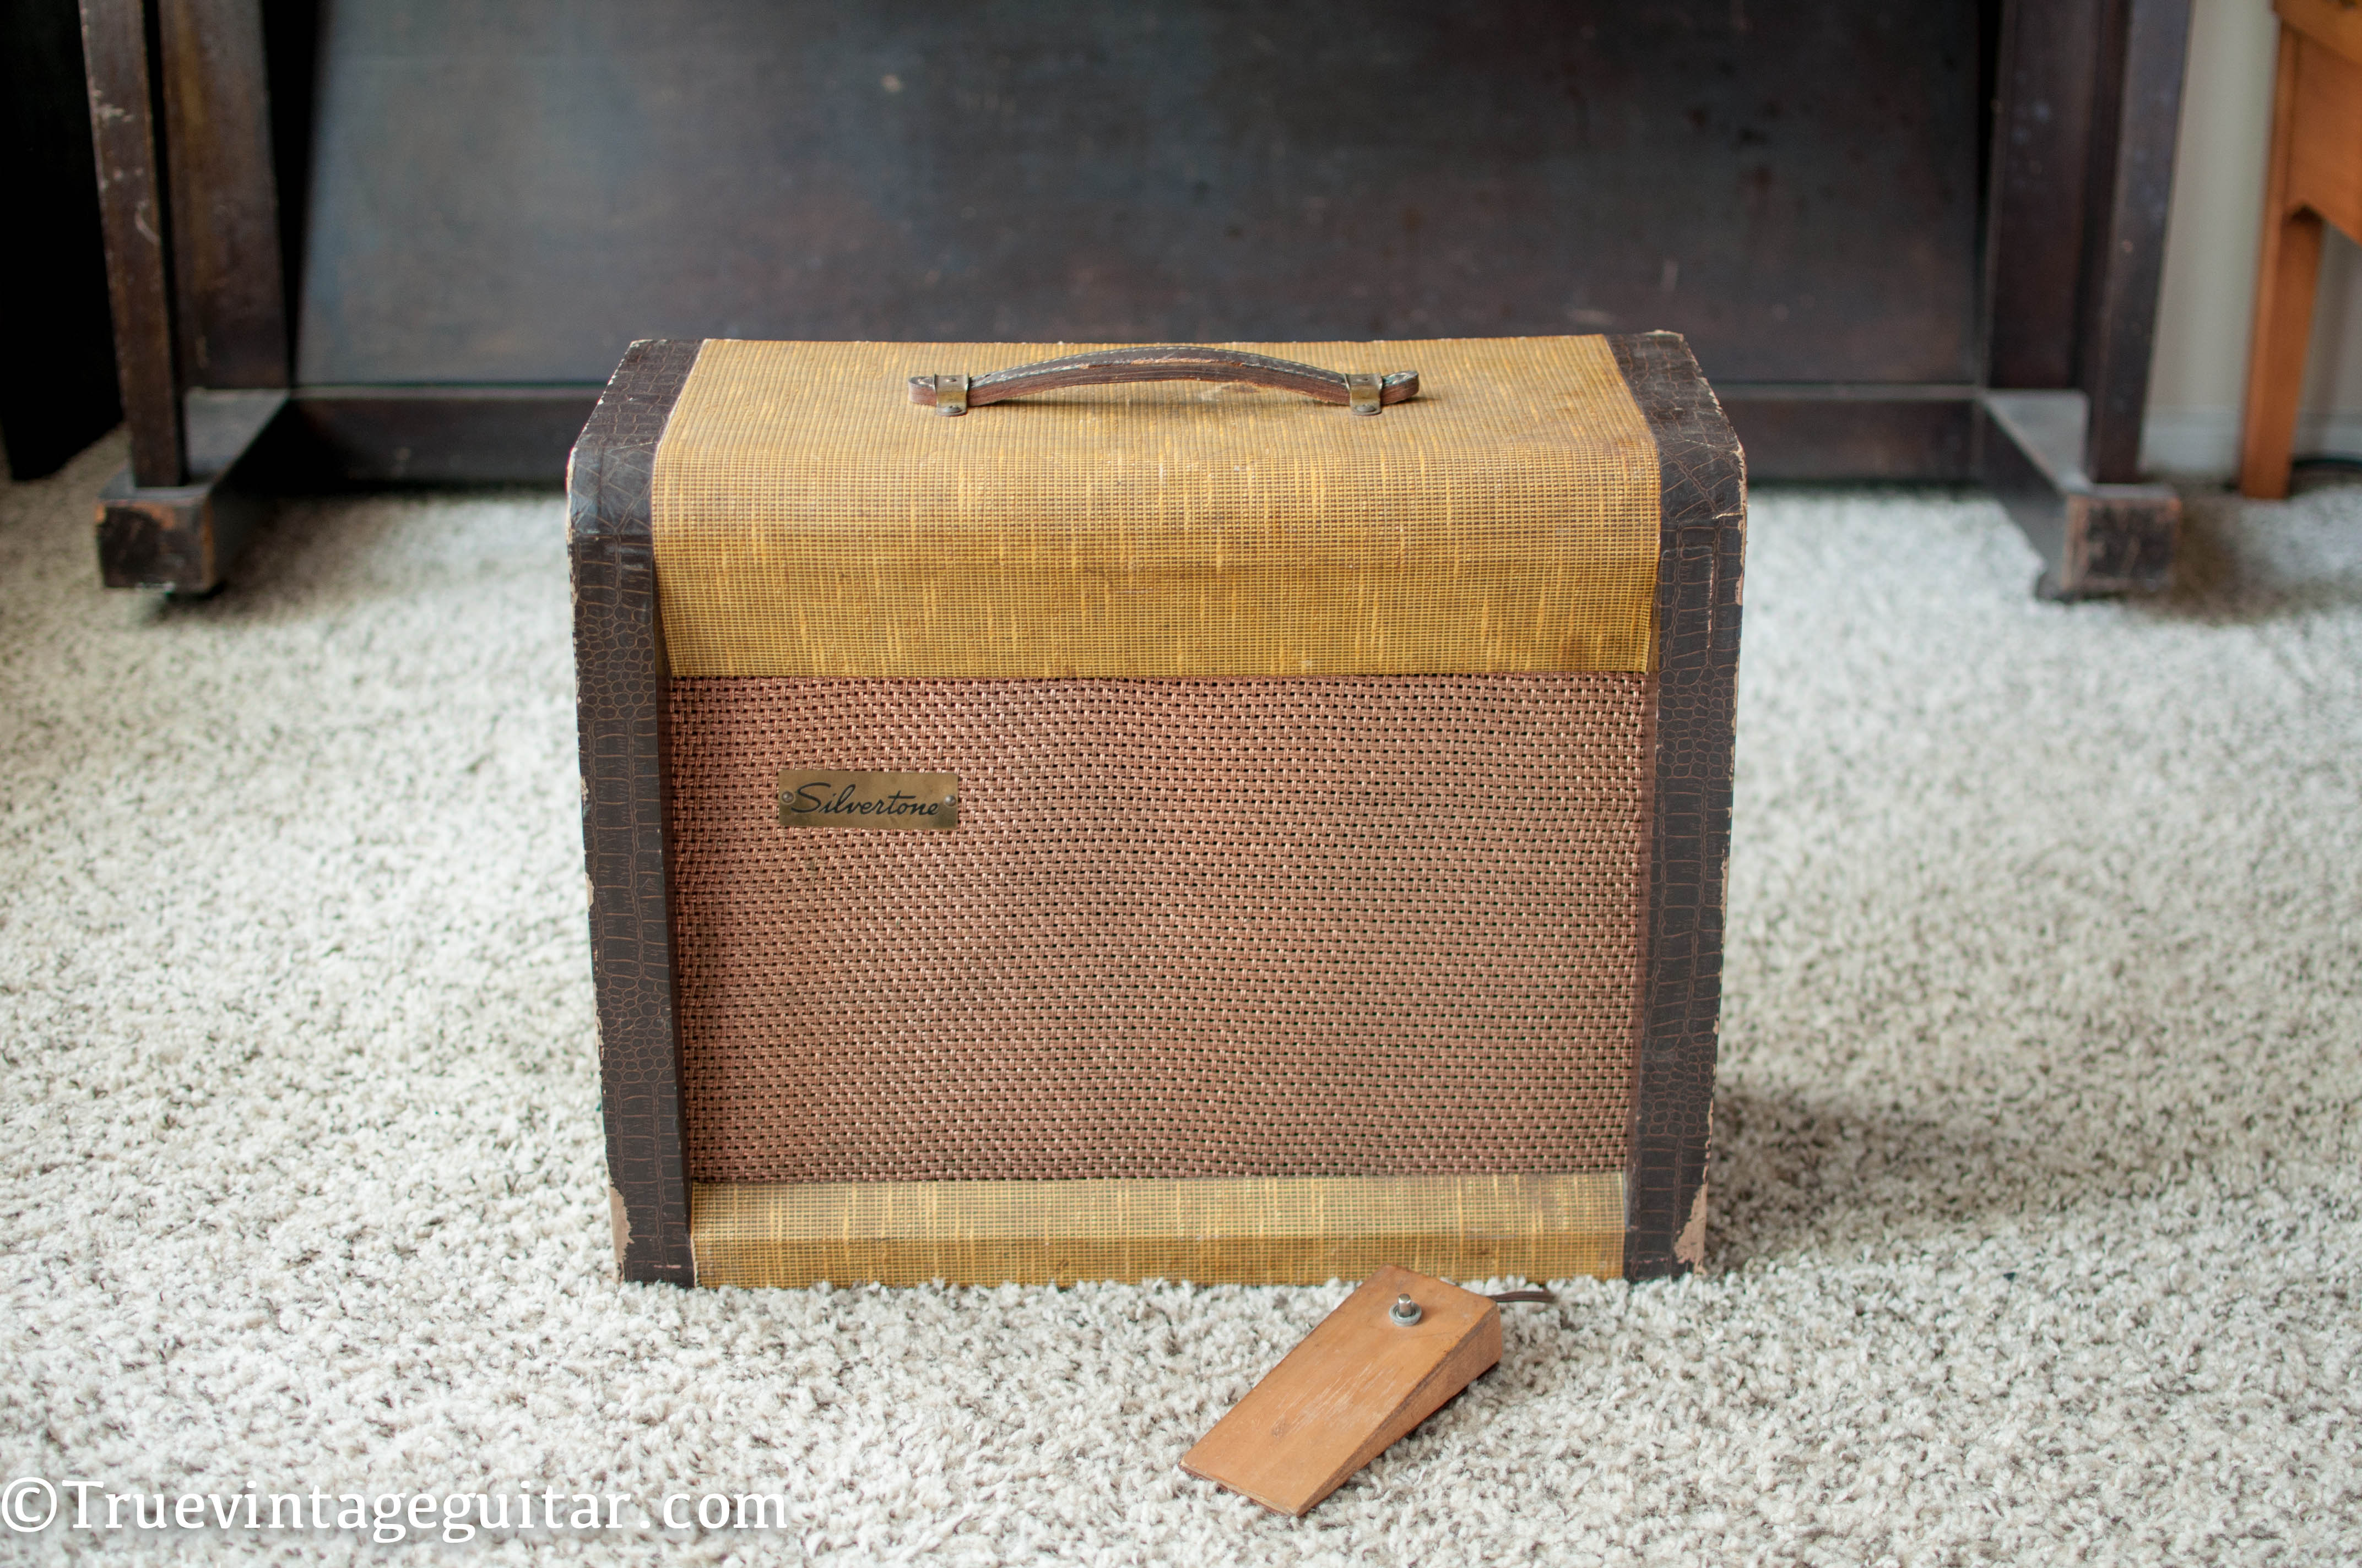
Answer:
M694 1181L1625 1164L1651 678L676 680ZM782 767L957 772L782 829Z

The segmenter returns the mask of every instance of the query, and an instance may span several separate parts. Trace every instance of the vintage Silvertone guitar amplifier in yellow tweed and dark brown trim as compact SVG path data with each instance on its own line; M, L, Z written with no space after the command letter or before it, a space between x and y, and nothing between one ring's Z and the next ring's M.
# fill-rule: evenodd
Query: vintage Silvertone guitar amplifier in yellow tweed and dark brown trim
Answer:
M569 489L626 1278L1696 1261L1746 472L1677 335L638 342Z

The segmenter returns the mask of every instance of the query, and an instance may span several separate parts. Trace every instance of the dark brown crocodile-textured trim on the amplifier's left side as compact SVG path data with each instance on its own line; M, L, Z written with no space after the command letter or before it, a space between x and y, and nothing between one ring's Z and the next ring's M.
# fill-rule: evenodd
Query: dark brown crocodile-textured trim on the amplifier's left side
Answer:
M694 1285L666 857L666 659L647 486L694 342L635 342L569 468L600 1108L626 1280Z

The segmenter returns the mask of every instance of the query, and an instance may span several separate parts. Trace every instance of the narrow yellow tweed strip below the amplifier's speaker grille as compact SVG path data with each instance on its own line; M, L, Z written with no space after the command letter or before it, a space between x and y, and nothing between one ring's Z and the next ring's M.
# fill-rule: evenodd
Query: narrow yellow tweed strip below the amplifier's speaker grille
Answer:
M699 1285L1568 1280L1623 1240L1623 1171L690 1185Z

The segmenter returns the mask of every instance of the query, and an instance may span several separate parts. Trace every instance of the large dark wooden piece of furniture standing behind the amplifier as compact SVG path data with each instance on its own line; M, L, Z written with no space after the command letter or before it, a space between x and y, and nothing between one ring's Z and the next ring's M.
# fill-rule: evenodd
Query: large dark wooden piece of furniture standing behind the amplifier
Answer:
M83 0L109 581L227 569L165 527L198 392L286 390L255 482L555 477L645 335L1677 328L1757 477L1986 477L2069 595L2171 550L2187 0L149 5L154 59Z

